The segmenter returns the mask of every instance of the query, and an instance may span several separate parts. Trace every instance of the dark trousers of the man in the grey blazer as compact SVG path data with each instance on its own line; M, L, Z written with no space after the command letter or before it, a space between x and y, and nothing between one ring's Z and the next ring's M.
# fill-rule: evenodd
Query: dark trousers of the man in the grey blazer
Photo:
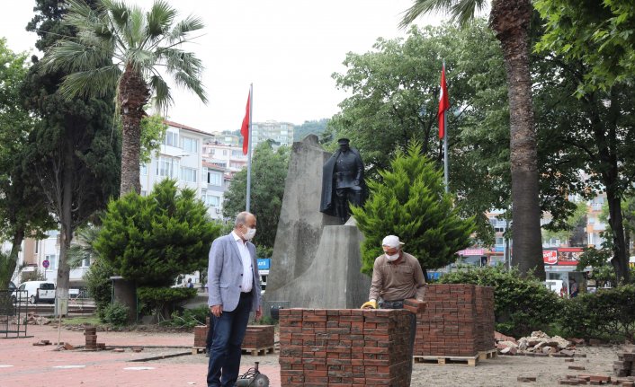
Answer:
M233 387L240 369L240 346L245 339L252 305L251 293L241 294L235 310L213 316L214 334L207 370L208 387Z

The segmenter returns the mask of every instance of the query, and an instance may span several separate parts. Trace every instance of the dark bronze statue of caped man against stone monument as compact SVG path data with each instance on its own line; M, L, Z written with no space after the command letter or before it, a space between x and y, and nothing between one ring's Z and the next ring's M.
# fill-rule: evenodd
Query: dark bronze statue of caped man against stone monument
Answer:
M351 215L349 202L362 206L366 190L362 157L349 143L348 138L337 140L339 149L324 164L319 208L326 215L337 216L342 224Z

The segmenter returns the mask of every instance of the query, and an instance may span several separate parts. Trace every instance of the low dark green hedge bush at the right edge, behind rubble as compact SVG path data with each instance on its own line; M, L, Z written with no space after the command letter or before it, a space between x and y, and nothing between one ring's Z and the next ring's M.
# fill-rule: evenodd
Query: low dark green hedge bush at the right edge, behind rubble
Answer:
M633 340L635 335L635 286L600 289L565 300L558 319L568 336L584 339Z

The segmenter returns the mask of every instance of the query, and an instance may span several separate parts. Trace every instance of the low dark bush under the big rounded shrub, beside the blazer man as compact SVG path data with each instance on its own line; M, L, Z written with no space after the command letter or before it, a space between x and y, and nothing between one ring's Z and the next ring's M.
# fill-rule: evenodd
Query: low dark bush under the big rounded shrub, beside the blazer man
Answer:
M137 288L142 311L152 312L164 319L172 315L176 305L196 295L196 289L189 287L153 287Z

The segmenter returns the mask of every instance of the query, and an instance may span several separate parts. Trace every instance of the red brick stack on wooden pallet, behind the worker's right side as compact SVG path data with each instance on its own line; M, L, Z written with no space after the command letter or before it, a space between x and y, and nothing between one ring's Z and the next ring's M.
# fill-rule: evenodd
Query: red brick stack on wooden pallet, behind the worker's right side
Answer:
M494 350L494 288L467 284L427 286L417 314L415 356L477 356Z

